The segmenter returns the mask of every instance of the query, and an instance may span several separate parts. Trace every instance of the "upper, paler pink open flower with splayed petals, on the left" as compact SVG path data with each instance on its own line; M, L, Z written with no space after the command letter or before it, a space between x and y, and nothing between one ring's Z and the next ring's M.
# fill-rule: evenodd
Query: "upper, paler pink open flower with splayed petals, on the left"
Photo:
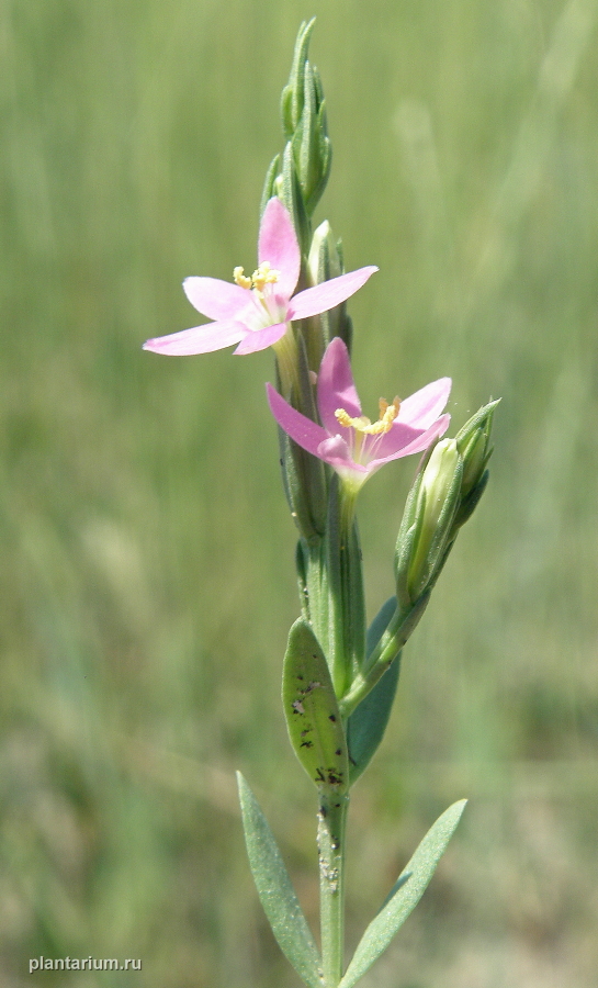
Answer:
M258 243L258 269L251 278L235 268L235 283L218 278L187 278L183 289L191 304L213 323L148 339L144 349L171 356L222 350L238 344L235 353L252 353L277 344L291 319L327 312L364 284L375 267L332 278L293 296L301 252L291 217L279 199L266 206Z

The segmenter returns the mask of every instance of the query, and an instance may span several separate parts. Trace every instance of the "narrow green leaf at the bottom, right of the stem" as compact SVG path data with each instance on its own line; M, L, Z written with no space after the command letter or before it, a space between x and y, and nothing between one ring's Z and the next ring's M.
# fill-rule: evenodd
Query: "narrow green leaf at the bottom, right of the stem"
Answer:
M430 828L382 909L365 930L339 988L352 988L359 981L415 909L454 833L466 801L461 799L454 802Z

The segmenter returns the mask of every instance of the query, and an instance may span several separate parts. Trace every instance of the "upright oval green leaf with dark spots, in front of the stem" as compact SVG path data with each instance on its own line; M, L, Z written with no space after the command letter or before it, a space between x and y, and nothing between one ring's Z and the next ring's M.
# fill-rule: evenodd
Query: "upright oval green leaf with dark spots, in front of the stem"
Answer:
M291 744L314 785L346 793L349 761L345 729L326 658L304 618L298 618L289 633L282 704Z

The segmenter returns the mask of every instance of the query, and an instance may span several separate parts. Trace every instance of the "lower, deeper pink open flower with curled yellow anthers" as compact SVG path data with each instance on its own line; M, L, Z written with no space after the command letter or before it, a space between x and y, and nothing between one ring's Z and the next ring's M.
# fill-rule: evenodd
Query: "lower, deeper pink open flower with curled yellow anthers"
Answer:
M361 414L347 347L336 336L326 349L317 379L317 404L323 425L302 415L267 384L268 401L278 424L298 446L319 457L358 491L384 463L422 452L442 436L451 419L440 415L451 379L440 378L399 402L380 402L380 419Z

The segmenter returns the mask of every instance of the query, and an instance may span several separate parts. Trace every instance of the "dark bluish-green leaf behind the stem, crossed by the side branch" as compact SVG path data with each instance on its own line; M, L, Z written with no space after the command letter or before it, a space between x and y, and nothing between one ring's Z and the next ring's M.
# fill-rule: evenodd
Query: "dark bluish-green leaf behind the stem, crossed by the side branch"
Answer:
M371 655L396 610L396 597L381 607L366 636L366 655ZM377 751L391 716L400 670L400 652L347 721L350 785L359 778Z

